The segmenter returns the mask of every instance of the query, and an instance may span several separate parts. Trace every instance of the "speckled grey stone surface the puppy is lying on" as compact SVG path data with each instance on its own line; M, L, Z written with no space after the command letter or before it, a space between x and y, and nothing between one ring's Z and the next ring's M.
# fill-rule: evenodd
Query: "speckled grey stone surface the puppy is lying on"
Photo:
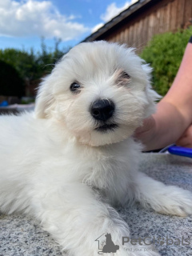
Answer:
M166 184L192 191L192 158L143 154L141 170ZM192 255L192 216L178 218L161 215L145 210L139 204L118 211L129 223L132 238L155 238L155 247L162 256ZM174 244L167 246L166 237L172 239ZM182 241L182 238L185 240ZM171 240L167 242L170 244ZM62 255L66 254L61 253L54 240L33 218L0 214L0 256Z

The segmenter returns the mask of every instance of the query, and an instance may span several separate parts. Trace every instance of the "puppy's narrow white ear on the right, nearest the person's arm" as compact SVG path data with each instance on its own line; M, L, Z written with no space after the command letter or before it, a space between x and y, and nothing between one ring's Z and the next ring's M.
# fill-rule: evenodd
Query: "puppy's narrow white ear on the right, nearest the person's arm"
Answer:
M145 111L145 118L150 117L151 114L154 114L156 107L155 102L158 101L162 96L160 96L156 91L154 91L150 85L151 80L151 72L152 68L148 64L143 64L142 69L146 72L147 76L147 86L146 86L146 99L147 99L147 106Z

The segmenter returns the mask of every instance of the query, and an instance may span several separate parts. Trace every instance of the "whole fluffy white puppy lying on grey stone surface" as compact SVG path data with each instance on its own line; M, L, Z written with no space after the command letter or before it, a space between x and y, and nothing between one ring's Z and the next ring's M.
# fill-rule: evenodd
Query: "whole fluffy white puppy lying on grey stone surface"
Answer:
M0 210L32 214L70 255L98 255L104 233L115 256L158 255L122 245L129 227L112 208L135 200L163 214L192 213L190 192L138 172L132 135L157 97L134 50L75 46L43 80L34 113L0 118Z

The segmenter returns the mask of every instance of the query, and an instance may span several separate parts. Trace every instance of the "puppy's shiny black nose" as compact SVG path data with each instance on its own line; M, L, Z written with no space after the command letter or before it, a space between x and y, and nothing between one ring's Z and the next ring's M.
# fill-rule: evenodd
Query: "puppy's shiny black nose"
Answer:
M110 99L98 99L91 104L90 114L96 120L106 121L114 114L114 102Z

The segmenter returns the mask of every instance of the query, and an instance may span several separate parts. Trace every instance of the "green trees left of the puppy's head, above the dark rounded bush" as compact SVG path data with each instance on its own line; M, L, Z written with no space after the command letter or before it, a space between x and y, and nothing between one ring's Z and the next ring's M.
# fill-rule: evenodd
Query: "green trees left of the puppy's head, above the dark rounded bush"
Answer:
M38 86L39 79L49 74L58 59L66 54L67 49L59 49L60 43L61 39L54 38L54 50L48 49L44 38L42 38L40 51L34 53L33 49L26 51L8 48L0 50L0 60L13 66L29 89L31 85ZM30 90L26 91L28 94L30 93Z

